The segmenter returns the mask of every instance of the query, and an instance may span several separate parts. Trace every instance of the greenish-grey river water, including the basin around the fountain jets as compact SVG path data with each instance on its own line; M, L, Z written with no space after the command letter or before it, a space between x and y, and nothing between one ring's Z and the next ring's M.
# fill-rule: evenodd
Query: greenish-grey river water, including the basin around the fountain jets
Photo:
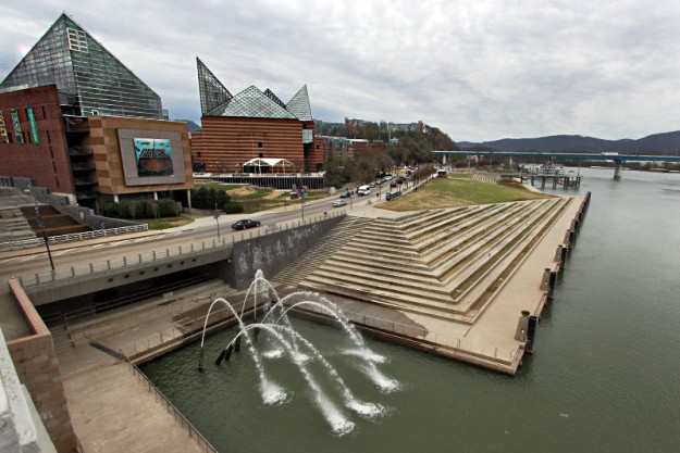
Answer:
M196 345L143 370L222 453L679 452L680 175L625 172L616 183L611 169L580 173L591 205L536 352L515 377L367 339L388 360L378 368L400 385L386 393L362 361L342 353L348 344L338 329L294 319L359 399L385 408L376 418L344 410L327 373L312 368L355 424L338 436L288 361L267 360L270 378L290 394L279 406L262 403L243 352L215 367L233 332L210 339L203 374Z

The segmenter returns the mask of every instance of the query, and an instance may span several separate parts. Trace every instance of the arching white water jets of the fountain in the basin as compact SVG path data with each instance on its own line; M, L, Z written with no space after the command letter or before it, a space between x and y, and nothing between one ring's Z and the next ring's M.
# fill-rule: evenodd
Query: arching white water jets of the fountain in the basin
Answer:
M286 404L294 398L294 393L286 391L276 383L268 373L276 365L280 358L287 358L295 366L310 391L311 399L323 415L325 421L335 435L346 435L354 430L355 423L346 415L341 405L355 414L374 418L387 413L380 403L370 403L359 400L345 382L341 373L311 341L300 335L292 325L288 312L302 306L313 306L321 313L330 316L341 327L348 345L332 355L348 355L357 361L373 386L383 393L398 390L399 383L385 376L378 368L378 364L385 362L385 357L372 352L359 334L332 301L312 292L294 292L280 298L275 289L267 281L261 270L255 275L245 301L238 313L233 304L223 298L215 299L208 309L199 348L198 369L206 372L205 345L206 332L213 309L224 305L238 323L238 329L231 340L223 347L214 361L219 367L223 362L230 362L234 352L240 351L242 339L252 361L258 375L258 385L262 403L270 406ZM252 306L252 322L247 324L245 307ZM258 322L258 315L261 319ZM261 335L264 332L265 335ZM258 343L260 339L260 343ZM312 366L312 362L318 364ZM319 374L326 379L326 386L320 382ZM330 386L327 385L330 383ZM337 402L339 400L339 403Z

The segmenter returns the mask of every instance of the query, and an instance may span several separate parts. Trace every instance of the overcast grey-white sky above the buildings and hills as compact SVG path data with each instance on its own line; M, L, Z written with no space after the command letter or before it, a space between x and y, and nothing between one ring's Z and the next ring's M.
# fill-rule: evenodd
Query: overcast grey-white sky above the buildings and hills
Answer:
M23 0L0 12L0 78L66 12L171 118L200 119L198 56L232 93L255 85L285 102L307 84L317 119L422 121L456 141L680 129L672 0Z

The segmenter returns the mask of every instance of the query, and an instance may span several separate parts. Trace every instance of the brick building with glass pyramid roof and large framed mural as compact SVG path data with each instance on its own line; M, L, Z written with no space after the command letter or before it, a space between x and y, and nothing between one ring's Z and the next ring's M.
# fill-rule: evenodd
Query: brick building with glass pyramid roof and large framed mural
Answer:
M92 209L126 198L188 204L187 127L166 117L151 88L62 14L0 84L0 176Z

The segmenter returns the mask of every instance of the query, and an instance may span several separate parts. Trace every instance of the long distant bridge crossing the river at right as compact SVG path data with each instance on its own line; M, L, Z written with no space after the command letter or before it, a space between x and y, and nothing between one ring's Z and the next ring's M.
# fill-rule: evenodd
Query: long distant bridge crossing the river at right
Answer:
M677 155L638 155L638 154L591 154L586 152L536 152L536 151L434 151L435 155L444 158L444 163L448 163L449 156L491 156L491 158L529 158L540 159L542 161L567 159L581 161L614 161L614 179L621 179L621 171L623 162L678 162L680 156Z

